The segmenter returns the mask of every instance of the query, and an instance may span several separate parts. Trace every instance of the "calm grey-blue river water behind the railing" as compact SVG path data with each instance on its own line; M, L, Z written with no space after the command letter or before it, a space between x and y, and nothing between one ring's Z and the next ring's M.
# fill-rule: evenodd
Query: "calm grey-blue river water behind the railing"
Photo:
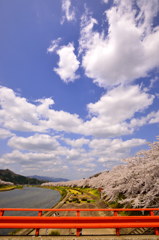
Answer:
M24 187L0 192L0 208L51 208L61 198L58 191L47 188ZM37 212L5 212L4 216L33 216ZM14 229L0 229L0 235L6 235Z

